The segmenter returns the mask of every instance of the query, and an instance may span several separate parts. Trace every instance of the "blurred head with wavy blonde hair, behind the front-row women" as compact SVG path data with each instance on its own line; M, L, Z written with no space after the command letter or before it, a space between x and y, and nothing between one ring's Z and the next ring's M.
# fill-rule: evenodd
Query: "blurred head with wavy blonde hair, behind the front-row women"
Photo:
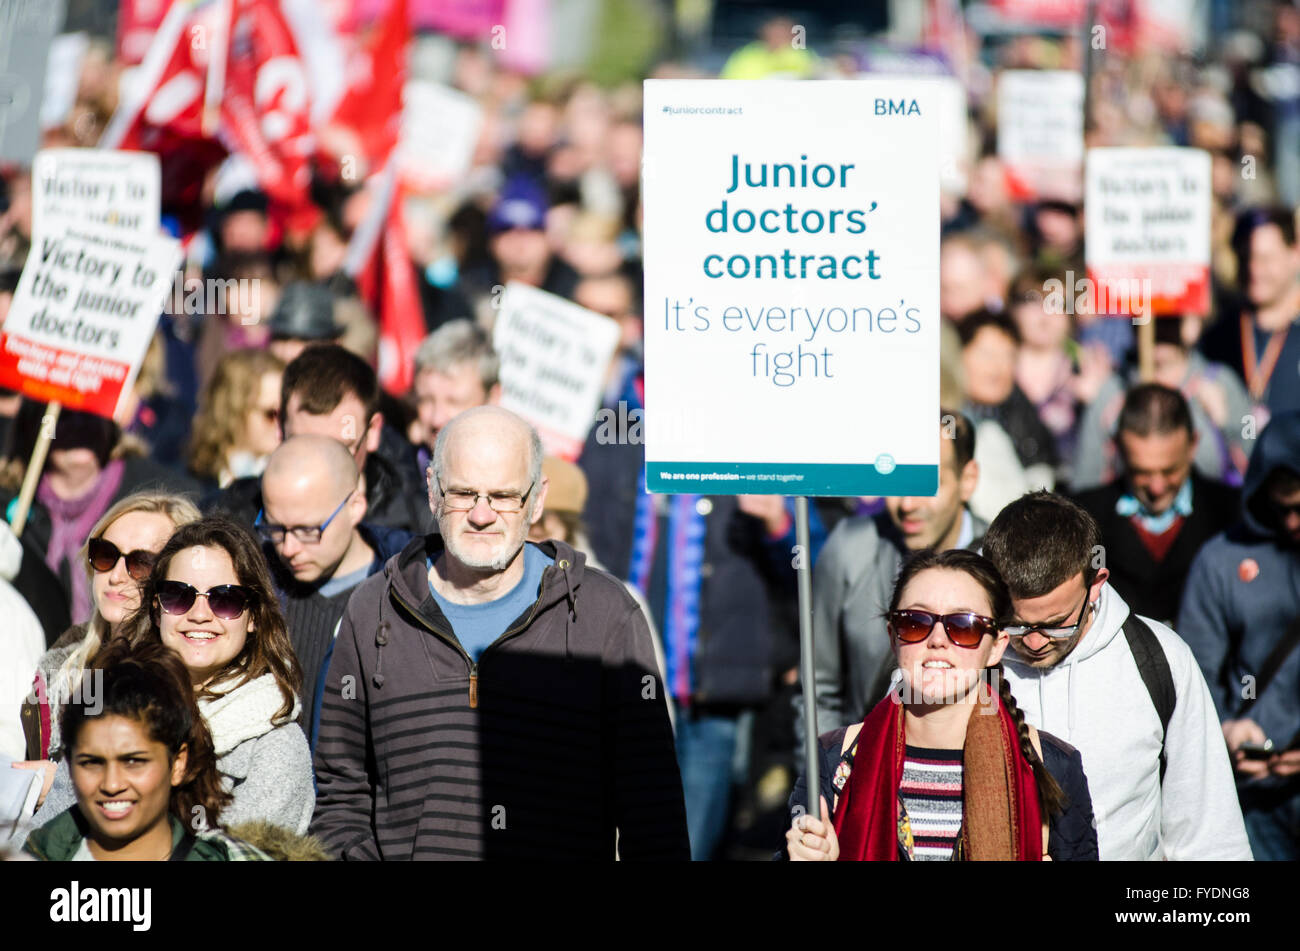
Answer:
M205 488L260 476L280 446L280 378L285 364L261 349L221 357L199 398L190 440L190 472Z

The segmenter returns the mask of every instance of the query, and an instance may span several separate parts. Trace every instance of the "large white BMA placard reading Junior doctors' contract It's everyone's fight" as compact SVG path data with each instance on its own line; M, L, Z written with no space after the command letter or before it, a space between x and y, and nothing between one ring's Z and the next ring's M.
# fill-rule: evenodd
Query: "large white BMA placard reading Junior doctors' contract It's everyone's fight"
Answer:
M928 81L645 83L646 486L933 495Z

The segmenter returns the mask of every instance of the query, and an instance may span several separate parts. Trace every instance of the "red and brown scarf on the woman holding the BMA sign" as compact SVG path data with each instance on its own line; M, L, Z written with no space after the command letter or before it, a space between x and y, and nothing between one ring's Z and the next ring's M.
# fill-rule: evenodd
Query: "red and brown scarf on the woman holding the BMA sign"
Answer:
M898 860L898 782L905 747L904 707L897 694L890 694L862 724L853 772L835 811L841 861ZM1043 816L1034 769L1020 755L1015 721L984 685L966 728L962 787L963 857L1043 859Z

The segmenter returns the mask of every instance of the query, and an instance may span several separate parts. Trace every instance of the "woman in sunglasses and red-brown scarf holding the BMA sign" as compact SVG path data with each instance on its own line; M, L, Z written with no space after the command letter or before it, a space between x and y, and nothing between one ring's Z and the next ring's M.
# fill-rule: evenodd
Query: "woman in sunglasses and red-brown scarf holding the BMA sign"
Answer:
M1097 859L1078 751L1028 726L1002 677L1010 609L980 555L904 565L888 612L902 679L862 724L820 738L822 816L794 816L790 859Z

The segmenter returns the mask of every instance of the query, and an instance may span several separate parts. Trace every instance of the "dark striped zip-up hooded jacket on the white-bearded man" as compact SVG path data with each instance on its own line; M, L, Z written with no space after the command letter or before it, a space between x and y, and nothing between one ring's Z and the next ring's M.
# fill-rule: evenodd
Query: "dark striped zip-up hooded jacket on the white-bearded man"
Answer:
M686 860L663 683L641 608L558 542L538 599L473 664L417 538L339 626L311 831L342 859Z

